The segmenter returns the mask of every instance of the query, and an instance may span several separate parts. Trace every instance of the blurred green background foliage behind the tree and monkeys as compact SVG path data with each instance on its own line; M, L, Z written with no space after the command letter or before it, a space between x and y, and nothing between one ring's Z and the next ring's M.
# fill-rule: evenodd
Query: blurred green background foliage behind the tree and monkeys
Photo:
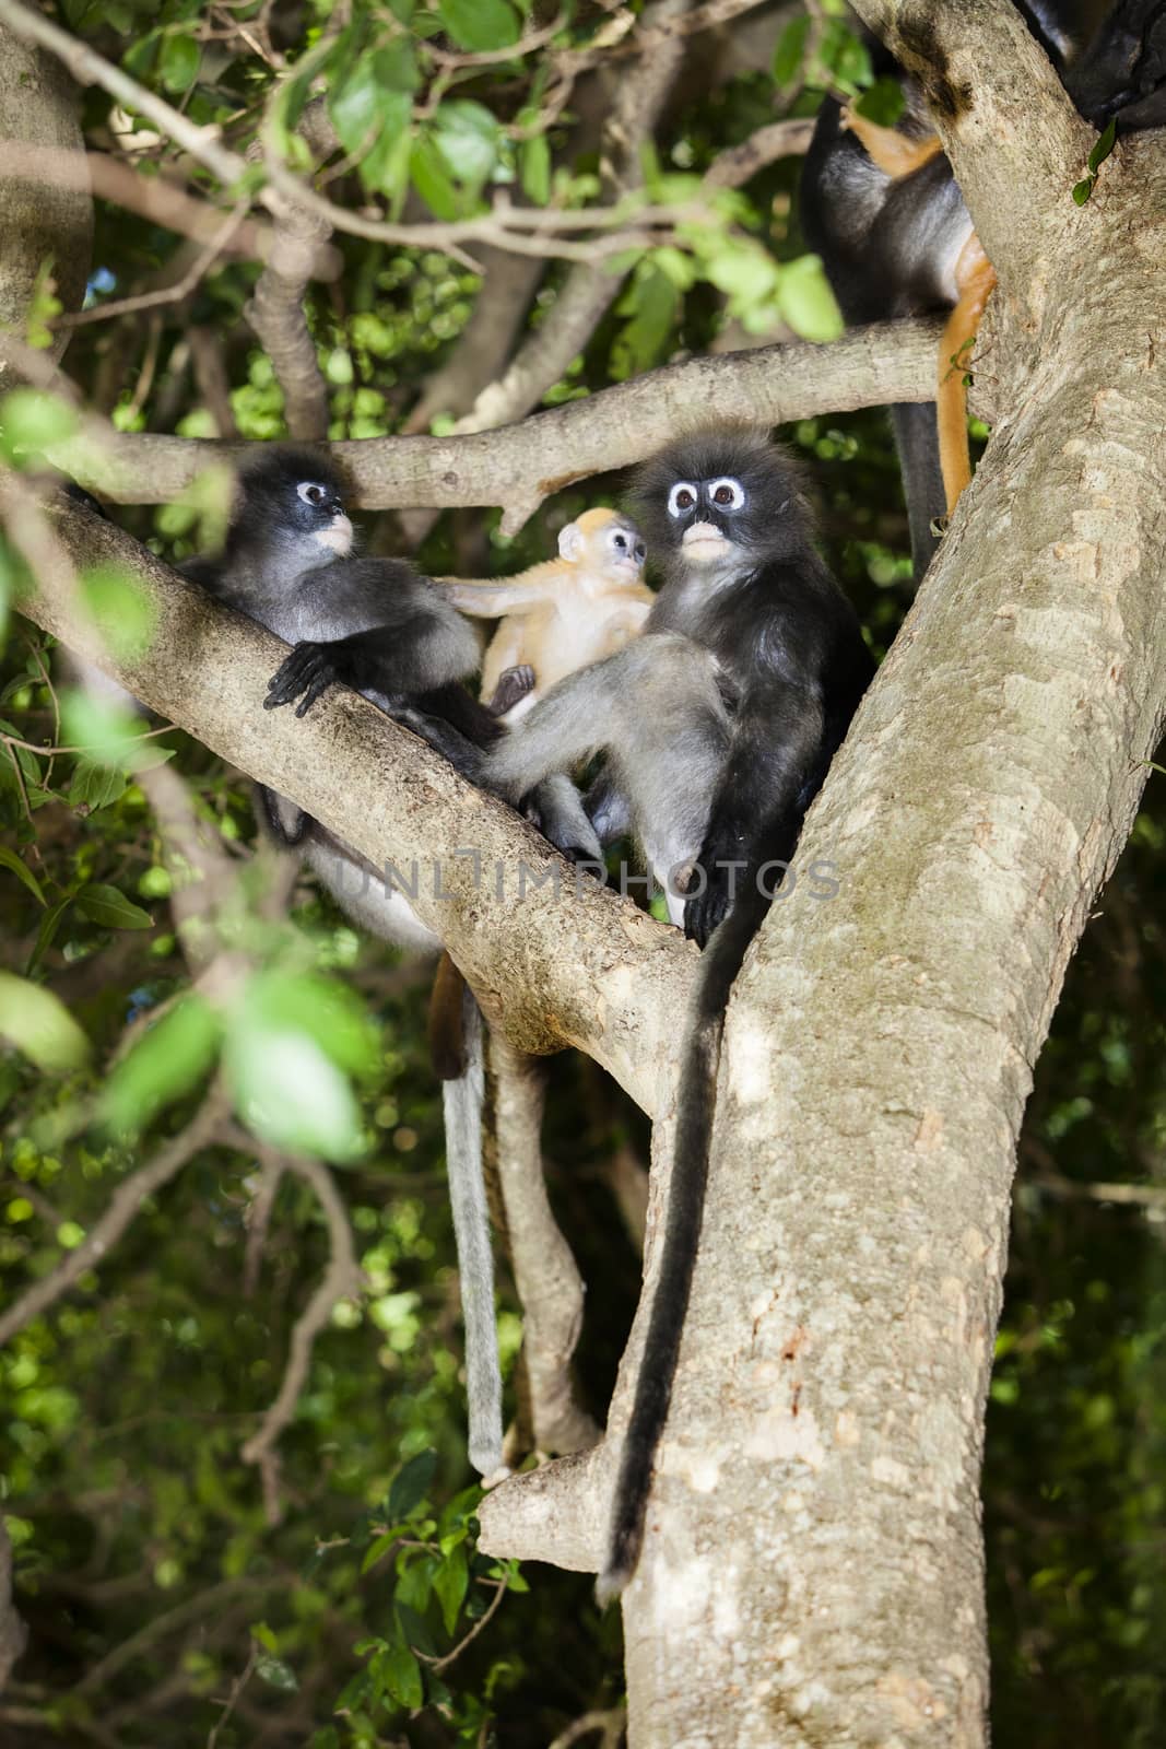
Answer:
M63 0L61 17L238 149L276 86L290 128L311 94L297 70L323 68L351 154L329 194L358 206L376 192L416 220L479 212L498 185L533 205L552 191L566 205L598 198L594 136L580 147L573 133L573 105L586 105L573 89L554 108L552 54L591 42L605 10ZM645 166L652 198L687 198L718 154L774 119L811 115L827 86L871 86L834 5L759 7L694 45ZM482 52L493 58L458 61ZM133 117L91 89L86 129L93 145L124 143ZM147 147L142 163L163 156ZM101 201L96 212L91 308L180 276L185 245L171 233ZM343 273L308 303L330 436L397 432L455 359L481 280L437 250L336 241ZM531 276L519 339L554 310L568 271L547 261ZM710 224L614 271L619 296L545 404L689 353L829 334L836 320L804 257L794 157L762 164ZM281 392L245 322L255 275L219 262L170 303L79 327L70 374L126 429L283 436ZM52 315L45 282L40 318ZM444 430L462 411L435 406L423 423ZM5 430L14 456L28 409L9 404ZM811 467L823 546L883 654L911 600L886 420L816 418L785 437ZM549 554L568 518L619 488L561 493L514 540L482 512L385 516L365 537L381 551L420 539L434 572L507 572ZM115 514L166 558L198 544L187 505ZM17 572L9 553L5 591ZM75 1251L115 1186L182 1130L217 1053L198 1025L159 1034L163 1051L128 1053L189 988L175 866L140 764L33 750L63 742L54 673L51 640L12 617L0 672L5 1303ZM110 1749L614 1744L615 1614L600 1618L584 1576L519 1572L474 1550L428 972L358 939L308 878L287 916L264 918L271 868L255 857L246 784L178 731L145 745L166 750L239 873L231 941L252 986L274 969L280 1004L299 1011L355 992L343 1044L322 1042L302 1013L288 1025L330 1051L351 1100L353 1147L336 1149L332 1170L364 1286L318 1336L278 1464L260 1476L241 1446L278 1390L330 1237L311 1184L285 1172L269 1202L260 1151L234 1133L147 1198L100 1268L0 1350L3 1515L30 1628L0 1732ZM986 1455L1002 1749L1149 1749L1166 1737L1161 798L1152 777L1070 967L1021 1147ZM40 1000L30 988L59 1004L49 1000L38 1044L33 1007L19 1007ZM260 1049L241 1105L262 1093L264 1049L278 1044L262 1032L269 1009L248 1011ZM638 1287L619 1191L647 1154L645 1126L582 1060L551 1065L549 1111L552 1196L591 1286L582 1390L601 1417ZM505 1273L500 1331L514 1389L521 1324Z

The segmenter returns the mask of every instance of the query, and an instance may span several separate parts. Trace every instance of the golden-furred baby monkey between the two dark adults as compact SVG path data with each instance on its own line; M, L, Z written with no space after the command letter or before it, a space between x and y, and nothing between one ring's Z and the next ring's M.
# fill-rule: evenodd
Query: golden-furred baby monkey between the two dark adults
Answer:
M594 509L559 532L558 558L517 577L442 579L463 614L502 619L482 663L482 703L514 721L556 680L638 637L656 600L643 558L635 523Z

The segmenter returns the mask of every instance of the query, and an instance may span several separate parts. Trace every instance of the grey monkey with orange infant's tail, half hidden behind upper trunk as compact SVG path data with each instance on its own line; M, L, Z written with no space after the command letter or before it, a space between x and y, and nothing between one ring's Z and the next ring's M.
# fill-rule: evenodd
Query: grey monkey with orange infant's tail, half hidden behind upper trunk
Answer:
M1080 114L1098 129L1166 121L1166 17L1161 0L1117 0L1082 51L1096 7L1017 0ZM904 91L895 128L827 98L802 170L802 229L850 324L949 310L937 402L892 408L916 581L935 551L933 523L970 479L967 352L995 275L942 154L921 87L874 45L879 72ZM1068 187L1065 191L1068 199Z

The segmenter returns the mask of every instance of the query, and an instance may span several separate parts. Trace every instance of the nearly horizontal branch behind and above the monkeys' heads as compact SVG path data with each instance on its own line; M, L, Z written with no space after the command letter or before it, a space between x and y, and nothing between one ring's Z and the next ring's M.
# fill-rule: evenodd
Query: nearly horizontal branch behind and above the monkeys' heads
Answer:
M815 413L930 401L940 324L927 318L853 329L829 346L804 341L649 371L586 401L500 432L468 437L371 437L332 444L367 509L500 504L516 530L577 479L640 462L678 429L708 420L783 425ZM52 460L117 504L175 498L243 444L115 432L89 420Z

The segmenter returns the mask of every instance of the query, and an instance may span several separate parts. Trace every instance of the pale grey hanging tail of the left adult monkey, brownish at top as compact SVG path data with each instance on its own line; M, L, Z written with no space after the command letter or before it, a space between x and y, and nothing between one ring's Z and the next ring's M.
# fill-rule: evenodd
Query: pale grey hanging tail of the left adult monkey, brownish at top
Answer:
M470 1422L470 1464L486 1480L502 1462L502 1368L495 1326L495 1259L489 1249L489 1207L482 1174L482 1016L472 990L462 997L465 1070L442 1081L446 1167L458 1247L465 1373Z

